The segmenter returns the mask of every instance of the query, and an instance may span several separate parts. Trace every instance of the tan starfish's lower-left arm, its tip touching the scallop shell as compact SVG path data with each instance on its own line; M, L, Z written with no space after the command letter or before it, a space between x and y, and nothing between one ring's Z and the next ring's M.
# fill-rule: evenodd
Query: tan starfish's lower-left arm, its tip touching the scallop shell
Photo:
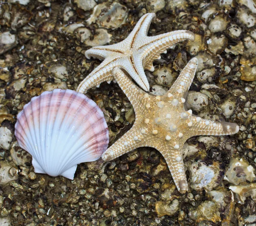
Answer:
M131 152L132 150L142 146L142 134L136 128L136 122L134 126L125 133L119 140L117 140L110 148L108 148L103 154L102 159L104 161L111 161L122 154Z

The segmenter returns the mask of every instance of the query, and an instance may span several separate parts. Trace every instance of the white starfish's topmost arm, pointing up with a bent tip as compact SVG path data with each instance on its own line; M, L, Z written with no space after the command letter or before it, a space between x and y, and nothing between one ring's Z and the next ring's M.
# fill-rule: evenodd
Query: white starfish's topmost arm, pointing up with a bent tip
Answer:
M130 48L134 47L137 37L145 37L148 34L149 26L154 17L156 17L155 13L146 13L142 17L140 17L140 20L126 38L126 40L129 40Z

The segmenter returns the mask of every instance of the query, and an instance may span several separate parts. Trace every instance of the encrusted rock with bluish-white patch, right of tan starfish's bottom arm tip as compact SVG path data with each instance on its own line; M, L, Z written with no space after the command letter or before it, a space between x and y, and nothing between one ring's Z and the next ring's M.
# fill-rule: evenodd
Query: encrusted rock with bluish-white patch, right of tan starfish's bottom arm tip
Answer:
M189 162L189 171L191 172L191 188L200 190L206 188L211 191L221 183L225 173L224 163L214 160L207 163L204 160Z

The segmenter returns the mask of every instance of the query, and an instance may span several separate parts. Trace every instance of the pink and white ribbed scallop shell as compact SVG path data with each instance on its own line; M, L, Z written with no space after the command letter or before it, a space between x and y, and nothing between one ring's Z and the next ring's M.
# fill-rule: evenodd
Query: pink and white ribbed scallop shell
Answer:
M33 97L17 115L15 136L32 155L36 173L72 180L77 164L99 159L109 142L101 109L68 89Z

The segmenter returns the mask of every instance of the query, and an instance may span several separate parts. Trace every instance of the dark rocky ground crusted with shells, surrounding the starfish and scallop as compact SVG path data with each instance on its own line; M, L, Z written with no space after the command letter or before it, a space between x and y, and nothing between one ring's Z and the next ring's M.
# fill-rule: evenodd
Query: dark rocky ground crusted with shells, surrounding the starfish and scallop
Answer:
M0 3L0 225L242 226L256 224L256 3L253 0L7 0ZM236 122L238 134L192 137L184 148L189 192L177 192L159 152L140 148L78 166L74 180L35 174L14 135L17 113L55 88L76 90L99 65L91 46L117 43L155 12L148 35L195 33L146 71L165 93L191 57L198 70L186 103L200 117ZM105 114L110 145L134 111L118 85L87 96Z

